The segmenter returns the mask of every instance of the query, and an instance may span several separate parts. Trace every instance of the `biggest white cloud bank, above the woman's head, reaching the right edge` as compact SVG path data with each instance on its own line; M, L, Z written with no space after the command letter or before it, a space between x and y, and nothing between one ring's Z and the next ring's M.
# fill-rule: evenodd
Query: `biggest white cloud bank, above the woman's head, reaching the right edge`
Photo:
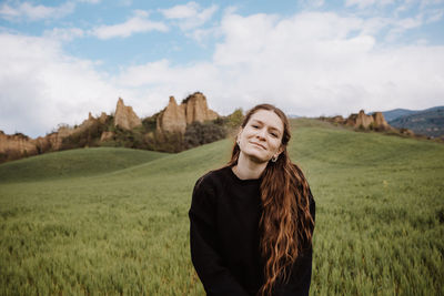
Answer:
M199 90L223 114L260 102L312 116L442 104L444 48L382 49L363 33L367 27L334 13L230 14L212 62L161 60L123 69L115 81L155 93L163 105L170 94Z

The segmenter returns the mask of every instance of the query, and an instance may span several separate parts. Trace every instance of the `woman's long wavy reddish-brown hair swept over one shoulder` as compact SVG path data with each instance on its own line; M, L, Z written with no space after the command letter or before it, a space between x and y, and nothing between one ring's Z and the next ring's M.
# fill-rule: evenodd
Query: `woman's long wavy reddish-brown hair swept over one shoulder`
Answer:
M286 282L290 267L301 252L312 244L314 221L310 213L309 184L301 169L290 161L290 123L285 114L271 104L260 104L251 109L243 122L245 127L250 118L259 110L273 111L284 125L282 136L283 152L276 162L269 162L262 173L260 220L261 254L264 259L264 284L260 295L271 295L279 282ZM234 144L229 166L238 163L240 147Z

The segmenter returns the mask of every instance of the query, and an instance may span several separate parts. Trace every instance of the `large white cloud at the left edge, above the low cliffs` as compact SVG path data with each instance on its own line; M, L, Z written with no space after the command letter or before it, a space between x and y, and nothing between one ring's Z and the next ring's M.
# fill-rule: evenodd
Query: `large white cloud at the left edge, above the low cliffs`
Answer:
M81 123L88 112L110 112L119 95L94 64L63 54L43 38L0 34L0 130L44 135L59 123Z

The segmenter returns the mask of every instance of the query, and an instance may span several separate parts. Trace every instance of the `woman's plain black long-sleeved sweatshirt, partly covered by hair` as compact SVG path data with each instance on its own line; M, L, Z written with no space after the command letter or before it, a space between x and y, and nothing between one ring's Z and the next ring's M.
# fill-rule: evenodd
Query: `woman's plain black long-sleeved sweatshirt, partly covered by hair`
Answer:
M191 259L208 295L256 295L263 285L259 221L261 180L240 180L226 166L198 180L190 216ZM314 218L315 204L310 196ZM274 296L309 295L312 249L292 266Z

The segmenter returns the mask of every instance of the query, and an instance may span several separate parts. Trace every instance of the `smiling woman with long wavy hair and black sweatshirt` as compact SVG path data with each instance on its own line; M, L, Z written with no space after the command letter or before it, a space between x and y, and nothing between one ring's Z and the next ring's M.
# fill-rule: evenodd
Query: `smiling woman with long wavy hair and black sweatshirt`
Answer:
M208 295L309 295L315 204L285 114L248 112L231 161L196 182L191 257Z

